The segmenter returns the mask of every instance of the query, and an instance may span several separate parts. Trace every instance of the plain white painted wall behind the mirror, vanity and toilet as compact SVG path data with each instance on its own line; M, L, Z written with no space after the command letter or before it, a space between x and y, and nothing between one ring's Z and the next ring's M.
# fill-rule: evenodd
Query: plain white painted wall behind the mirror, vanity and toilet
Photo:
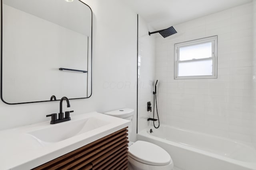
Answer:
M83 1L93 12L92 97L71 100L71 107L63 108L81 114L129 107L136 115L137 15L118 0ZM0 102L0 129L50 121L45 115L58 109L59 102L19 105ZM136 123L133 125L136 129ZM135 138L133 133L131 139Z

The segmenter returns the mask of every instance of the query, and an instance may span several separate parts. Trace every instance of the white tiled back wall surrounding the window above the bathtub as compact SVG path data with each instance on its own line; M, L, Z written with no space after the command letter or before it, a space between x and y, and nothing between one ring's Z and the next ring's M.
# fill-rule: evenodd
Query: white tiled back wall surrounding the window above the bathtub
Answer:
M164 124L251 142L252 3L174 25L156 38L158 109ZM218 35L218 78L174 80L174 43Z

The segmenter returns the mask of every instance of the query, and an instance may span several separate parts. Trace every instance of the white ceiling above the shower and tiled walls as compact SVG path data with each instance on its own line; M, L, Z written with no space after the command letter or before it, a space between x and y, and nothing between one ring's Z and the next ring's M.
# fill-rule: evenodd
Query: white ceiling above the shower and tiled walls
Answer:
M252 0L122 0L156 30L233 8ZM151 30L152 31L152 30Z

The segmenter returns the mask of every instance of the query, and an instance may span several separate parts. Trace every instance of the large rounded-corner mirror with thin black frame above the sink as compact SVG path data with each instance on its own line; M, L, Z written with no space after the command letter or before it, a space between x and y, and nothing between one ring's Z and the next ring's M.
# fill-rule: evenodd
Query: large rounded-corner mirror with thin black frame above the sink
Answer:
M1 99L89 98L92 10L80 0L1 0Z

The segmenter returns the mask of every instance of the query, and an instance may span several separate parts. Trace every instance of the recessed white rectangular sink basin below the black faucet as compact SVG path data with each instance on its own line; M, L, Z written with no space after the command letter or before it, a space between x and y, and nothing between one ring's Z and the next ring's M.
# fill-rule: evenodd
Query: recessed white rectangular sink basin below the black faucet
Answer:
M109 123L96 117L89 117L78 121L66 121L50 125L43 129L28 132L28 134L35 137L39 142L55 143L97 129Z

